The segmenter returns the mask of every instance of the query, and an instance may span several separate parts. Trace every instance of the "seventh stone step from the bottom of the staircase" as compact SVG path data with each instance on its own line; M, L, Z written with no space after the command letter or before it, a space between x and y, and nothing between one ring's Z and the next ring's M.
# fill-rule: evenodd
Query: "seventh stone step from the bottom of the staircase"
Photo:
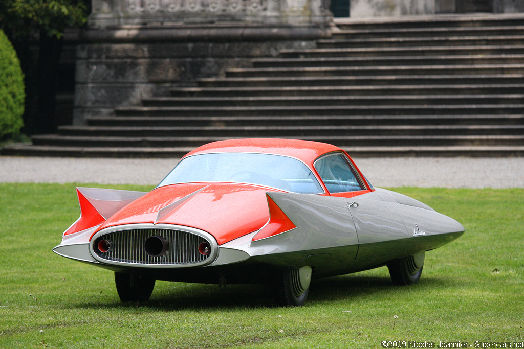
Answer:
M248 96L370 96L370 95L462 95L516 94L524 84L460 85L367 85L367 86L272 86L272 87L181 87L171 89L173 97L248 97Z

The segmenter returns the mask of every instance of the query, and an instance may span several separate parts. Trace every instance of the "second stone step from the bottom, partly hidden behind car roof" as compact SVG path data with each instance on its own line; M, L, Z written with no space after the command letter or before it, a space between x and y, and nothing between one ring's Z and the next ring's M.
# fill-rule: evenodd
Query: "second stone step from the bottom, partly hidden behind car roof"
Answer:
M290 138L297 138L289 136ZM46 134L35 136L33 144L52 147L138 147L138 148L184 148L224 140L224 137L114 137L114 136L60 136ZM396 147L396 146L456 146L456 145L510 145L524 146L524 136L311 136L300 139L328 142L341 147ZM189 150L188 150L189 149Z

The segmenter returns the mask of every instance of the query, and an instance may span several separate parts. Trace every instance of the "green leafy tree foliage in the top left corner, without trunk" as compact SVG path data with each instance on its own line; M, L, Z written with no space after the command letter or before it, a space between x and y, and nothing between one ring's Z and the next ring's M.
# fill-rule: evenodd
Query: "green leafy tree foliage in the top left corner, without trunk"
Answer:
M0 27L15 36L27 36L35 30L60 38L64 29L87 20L84 0L2 0Z

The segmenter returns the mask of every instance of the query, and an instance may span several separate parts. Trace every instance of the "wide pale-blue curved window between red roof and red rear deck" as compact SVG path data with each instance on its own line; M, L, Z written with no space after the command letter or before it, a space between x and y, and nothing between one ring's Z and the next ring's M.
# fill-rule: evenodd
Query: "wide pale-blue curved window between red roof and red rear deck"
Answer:
M309 167L301 161L259 153L189 156L180 161L158 186L191 182L249 183L302 194L324 192Z

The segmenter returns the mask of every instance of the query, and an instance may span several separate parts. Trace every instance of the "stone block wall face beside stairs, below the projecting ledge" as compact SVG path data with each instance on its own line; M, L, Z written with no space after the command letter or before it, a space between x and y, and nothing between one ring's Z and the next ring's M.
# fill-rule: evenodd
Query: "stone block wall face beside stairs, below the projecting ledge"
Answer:
M174 86L190 86L200 78L224 76L227 69L250 67L253 58L302 48L314 48L314 40L224 41L210 37L84 43L77 49L73 124L83 125L89 116L111 115L115 107L139 105L143 98L168 96Z

